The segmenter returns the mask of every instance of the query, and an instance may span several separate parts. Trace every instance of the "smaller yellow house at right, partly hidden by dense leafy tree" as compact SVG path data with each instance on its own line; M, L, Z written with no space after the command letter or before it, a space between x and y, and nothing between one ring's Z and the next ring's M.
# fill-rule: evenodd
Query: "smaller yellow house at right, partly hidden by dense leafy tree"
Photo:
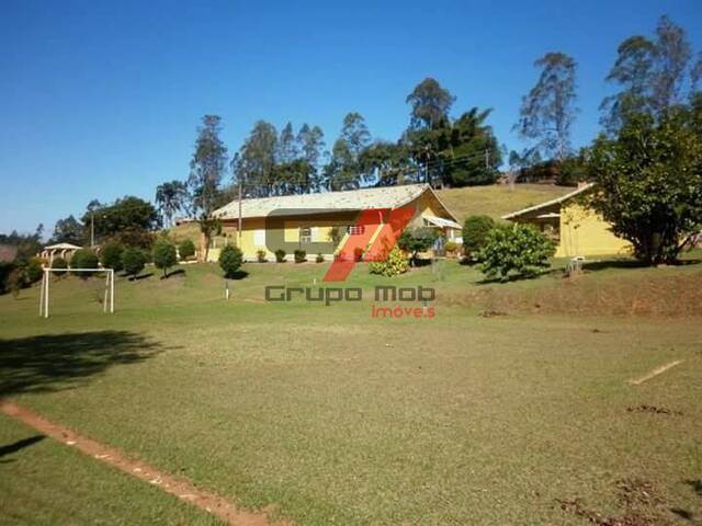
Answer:
M557 242L556 258L631 253L631 244L614 236L599 214L576 198L592 186L582 184L569 194L508 214L502 219L535 225Z

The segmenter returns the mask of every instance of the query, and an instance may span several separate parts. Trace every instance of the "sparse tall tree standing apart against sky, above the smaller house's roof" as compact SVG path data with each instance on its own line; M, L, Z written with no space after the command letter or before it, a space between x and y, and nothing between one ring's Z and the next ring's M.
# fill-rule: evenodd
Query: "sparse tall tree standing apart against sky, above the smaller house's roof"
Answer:
M563 161L570 151L570 126L577 113L577 64L563 53L547 53L534 66L541 75L522 100L514 128L520 137L536 141L544 153Z

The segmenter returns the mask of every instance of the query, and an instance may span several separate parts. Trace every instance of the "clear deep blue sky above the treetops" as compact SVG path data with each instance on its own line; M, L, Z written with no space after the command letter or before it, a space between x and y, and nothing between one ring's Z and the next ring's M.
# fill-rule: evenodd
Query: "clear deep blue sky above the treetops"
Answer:
M533 85L533 61L578 61L574 142L598 132L616 45L669 14L702 49L702 2L106 2L3 0L0 15L0 232L50 233L92 198L152 199L188 175L205 113L238 149L252 124L320 125L327 144L358 111L396 139L405 98L431 76L456 115L492 107L501 142Z

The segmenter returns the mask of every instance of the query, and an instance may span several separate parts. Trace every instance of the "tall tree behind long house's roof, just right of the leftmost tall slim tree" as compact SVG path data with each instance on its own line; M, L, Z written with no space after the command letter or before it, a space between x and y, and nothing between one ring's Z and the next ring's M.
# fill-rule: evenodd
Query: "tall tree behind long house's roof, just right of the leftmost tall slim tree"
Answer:
M275 165L278 132L265 121L258 121L239 150L236 178L241 178L246 194L251 197L276 195Z

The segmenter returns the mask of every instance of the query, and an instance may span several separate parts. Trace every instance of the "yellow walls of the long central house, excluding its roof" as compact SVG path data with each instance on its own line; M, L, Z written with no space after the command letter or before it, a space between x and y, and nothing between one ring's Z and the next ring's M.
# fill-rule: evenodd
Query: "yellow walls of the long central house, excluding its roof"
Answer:
M437 216L452 219L438 199L429 192L424 192L408 206L417 206L417 214L412 222L418 220L421 216ZM329 242L331 241L330 233L333 227L341 227L346 229L346 227L355 222L356 216L358 213L355 211L339 211L332 214L301 215L296 217L281 218L281 227L272 229L276 230L276 232L271 233L276 236L282 235L282 238L279 239L283 239L286 243L297 243L296 248L306 250L307 258L312 260L316 256L317 252L314 250L314 247L310 248L305 243L299 243L301 227L312 228L313 241ZM237 243L237 224L238 221L236 219L227 219L224 221L223 235L227 238L228 242ZM242 220L240 248L247 261L256 261L257 252L259 250L265 251L265 256L269 261L275 261L274 251L280 247L270 247L270 250L265 247L265 218L262 217L250 219L245 218ZM348 235L344 232L338 247L342 245L347 239ZM220 241L220 243L224 244L224 241ZM217 261L219 258L219 245L210 249L207 260ZM292 260L293 251L286 250L286 259ZM327 251L326 253L322 252L322 255L326 259L331 260L333 258L333 251Z

